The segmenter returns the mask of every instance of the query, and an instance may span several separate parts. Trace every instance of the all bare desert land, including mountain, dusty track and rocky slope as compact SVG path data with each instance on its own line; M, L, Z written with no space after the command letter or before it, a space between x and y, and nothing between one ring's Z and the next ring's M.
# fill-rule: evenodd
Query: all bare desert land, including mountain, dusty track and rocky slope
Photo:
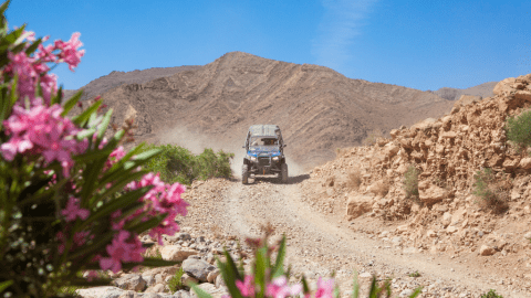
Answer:
M489 289L531 297L531 159L506 146L503 130L507 117L531 105L531 75L470 89L476 96L451 100L458 93L438 96L236 52L119 85L103 100L114 123L135 119L137 141L233 151L235 169L249 125L283 131L289 183L243 185L238 171L232 180L194 182L184 196L190 212L179 220L185 232L168 237L167 247L194 245L211 262L219 245L208 243L232 247L271 224L277 237L288 236L293 283L335 272L347 295L355 270L362 289L374 274L392 278L399 297L418 286L420 297L480 297ZM374 129L383 137L361 146ZM418 200L404 192L409 166L419 172ZM482 168L508 181L502 212L472 195ZM200 238L211 241L201 246Z

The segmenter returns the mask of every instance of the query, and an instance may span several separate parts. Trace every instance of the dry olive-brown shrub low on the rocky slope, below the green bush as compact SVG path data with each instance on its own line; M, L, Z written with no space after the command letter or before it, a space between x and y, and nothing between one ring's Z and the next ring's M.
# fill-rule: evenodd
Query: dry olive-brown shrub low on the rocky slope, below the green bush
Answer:
M473 179L472 194L481 199L481 203L487 207L497 213L503 212L507 209L509 196L506 181L497 179L494 172L489 168L478 170Z

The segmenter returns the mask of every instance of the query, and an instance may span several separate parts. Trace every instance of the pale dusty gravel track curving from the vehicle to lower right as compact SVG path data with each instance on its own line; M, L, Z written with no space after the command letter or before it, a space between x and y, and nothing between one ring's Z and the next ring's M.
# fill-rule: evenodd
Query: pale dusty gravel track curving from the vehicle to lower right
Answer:
M352 272L357 270L394 278L395 295L425 286L421 297L479 297L489 289L497 289L503 297L530 297L529 292L503 290L491 279L490 275L496 273L477 264L458 263L445 256L407 254L388 243L353 232L332 216L312 211L301 200L300 182L305 179L304 174L292 177L288 184L264 180L249 185L240 181L207 181L190 190L187 196L190 215L183 224L192 225L197 232L211 233L215 227L244 238L259 236L260 226L271 223L275 235L288 235L287 260L294 273L316 279L336 272L344 294L352 288ZM408 276L414 272L420 277ZM361 283L366 289L368 278L361 278Z

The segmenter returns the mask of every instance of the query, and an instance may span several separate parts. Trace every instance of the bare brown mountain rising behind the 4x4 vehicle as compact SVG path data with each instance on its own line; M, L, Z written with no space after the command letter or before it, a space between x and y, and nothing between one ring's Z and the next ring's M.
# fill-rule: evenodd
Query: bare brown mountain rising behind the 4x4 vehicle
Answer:
M439 117L452 105L433 93L241 52L103 97L115 109L114 123L136 118L138 140L167 142L186 129L211 142L240 145L250 125L277 124L288 156L306 167L332 159L339 147L360 145L376 128L388 132Z

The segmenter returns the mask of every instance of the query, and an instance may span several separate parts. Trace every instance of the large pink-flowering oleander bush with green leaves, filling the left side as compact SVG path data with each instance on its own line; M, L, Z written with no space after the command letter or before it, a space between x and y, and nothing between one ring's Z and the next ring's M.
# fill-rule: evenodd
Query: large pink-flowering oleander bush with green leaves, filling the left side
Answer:
M69 297L75 287L108 285L98 269L175 265L143 257L138 235L160 241L179 230L185 188L142 169L158 150L124 151L126 130L104 137L112 110L100 115L102 100L66 116L82 92L63 103L49 71L80 63L80 33L43 45L25 25L9 31L8 4L0 7L1 296Z

